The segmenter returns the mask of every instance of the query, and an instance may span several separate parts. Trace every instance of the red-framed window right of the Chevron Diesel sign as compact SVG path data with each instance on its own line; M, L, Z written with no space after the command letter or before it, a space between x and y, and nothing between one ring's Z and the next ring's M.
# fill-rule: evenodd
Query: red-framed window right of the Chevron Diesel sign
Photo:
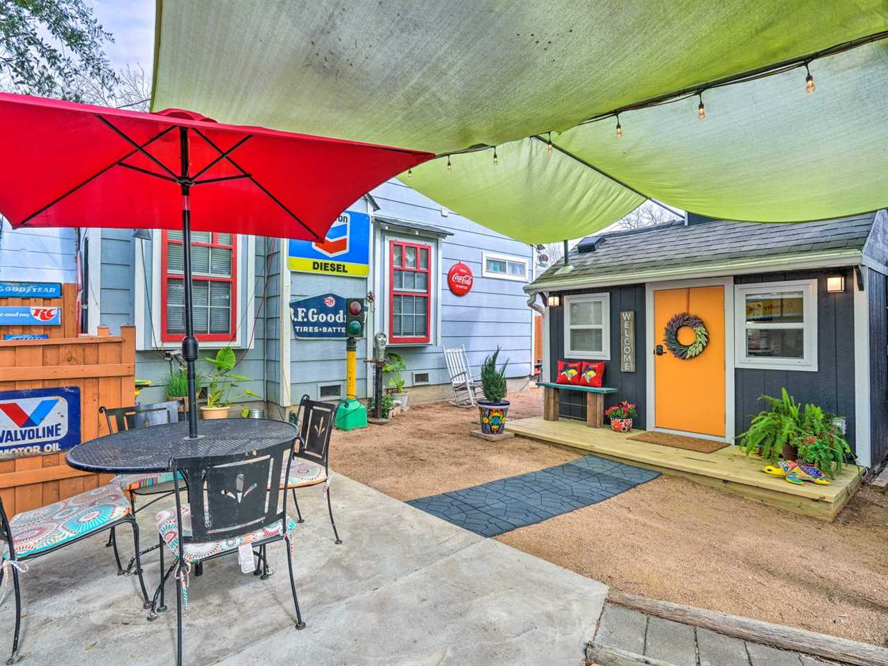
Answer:
M427 343L432 327L432 246L389 242L389 342Z

